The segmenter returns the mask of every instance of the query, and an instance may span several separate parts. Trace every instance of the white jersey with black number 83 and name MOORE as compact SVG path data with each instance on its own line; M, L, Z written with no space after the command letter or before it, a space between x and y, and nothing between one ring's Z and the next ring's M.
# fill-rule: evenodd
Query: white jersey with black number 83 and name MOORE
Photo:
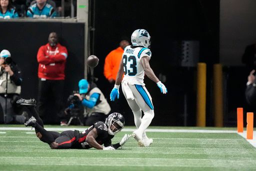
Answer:
M130 45L124 48L122 53L122 62L124 77L122 80L127 80L130 84L144 84L144 69L140 63L143 56L151 57L150 49L146 47L131 48Z

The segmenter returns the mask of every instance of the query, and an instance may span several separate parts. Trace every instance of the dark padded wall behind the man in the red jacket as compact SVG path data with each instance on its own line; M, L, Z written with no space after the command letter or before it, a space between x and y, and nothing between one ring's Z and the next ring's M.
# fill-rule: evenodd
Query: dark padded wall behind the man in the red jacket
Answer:
M68 51L64 100L72 90L78 88L77 82L84 72L84 24L62 22L0 22L0 50L8 49L13 60L22 71L21 96L37 97L38 48L48 42L51 31L57 32L60 43Z

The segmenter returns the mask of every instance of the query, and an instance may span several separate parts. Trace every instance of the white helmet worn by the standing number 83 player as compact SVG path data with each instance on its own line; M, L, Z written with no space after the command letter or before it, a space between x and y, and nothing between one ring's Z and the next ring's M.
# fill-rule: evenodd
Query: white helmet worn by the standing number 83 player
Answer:
M132 45L150 48L150 35L145 29L136 29L130 38Z

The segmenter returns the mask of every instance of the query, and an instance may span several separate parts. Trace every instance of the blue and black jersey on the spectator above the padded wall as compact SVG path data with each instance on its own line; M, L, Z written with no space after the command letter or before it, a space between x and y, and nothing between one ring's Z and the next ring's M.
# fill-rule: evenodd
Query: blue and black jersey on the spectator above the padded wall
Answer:
M41 10L37 7L36 3L34 3L28 7L26 16L33 18L54 17L56 16L56 11L49 3L45 3Z

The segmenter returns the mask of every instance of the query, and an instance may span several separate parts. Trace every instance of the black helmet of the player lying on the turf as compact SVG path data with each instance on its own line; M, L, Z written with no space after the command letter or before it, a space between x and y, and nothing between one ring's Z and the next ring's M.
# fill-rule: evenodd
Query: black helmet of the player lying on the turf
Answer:
M109 114L105 121L108 134L114 135L119 132L123 128L124 122L122 114L117 112Z

